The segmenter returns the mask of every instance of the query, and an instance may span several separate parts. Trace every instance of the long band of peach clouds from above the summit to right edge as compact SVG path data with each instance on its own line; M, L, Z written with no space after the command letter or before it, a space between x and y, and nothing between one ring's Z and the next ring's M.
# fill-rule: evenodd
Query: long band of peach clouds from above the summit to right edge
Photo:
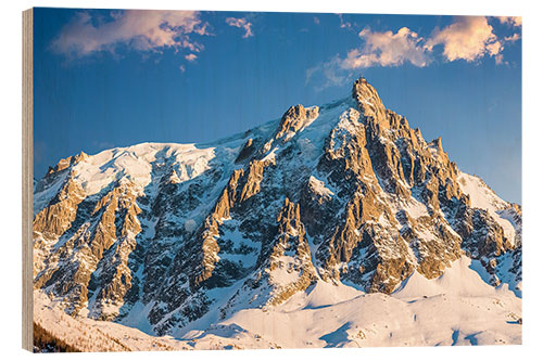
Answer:
M517 28L521 18L514 16L496 17L500 24ZM341 18L340 18L341 20ZM341 20L340 27L344 27ZM330 61L306 70L306 83L317 75L324 83L315 89L340 86L354 70L369 67L390 67L412 64L417 67L428 66L441 57L444 62L479 61L483 56L494 57L496 64L507 64L503 60L503 50L507 43L520 39L518 33L498 39L494 28L484 16L457 16L443 28L435 28L429 37L419 36L407 27L396 33L372 31L369 27L358 33L361 47L348 51L345 57L339 54Z

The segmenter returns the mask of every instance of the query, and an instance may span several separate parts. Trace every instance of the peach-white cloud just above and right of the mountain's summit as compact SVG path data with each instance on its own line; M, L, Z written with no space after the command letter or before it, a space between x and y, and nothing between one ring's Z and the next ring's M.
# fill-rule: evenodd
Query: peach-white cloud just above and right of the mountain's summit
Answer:
M349 51L346 59L341 62L345 69L399 66L404 63L422 67L431 61L421 44L424 39L406 27L396 34L365 28L358 36L364 40L364 46Z

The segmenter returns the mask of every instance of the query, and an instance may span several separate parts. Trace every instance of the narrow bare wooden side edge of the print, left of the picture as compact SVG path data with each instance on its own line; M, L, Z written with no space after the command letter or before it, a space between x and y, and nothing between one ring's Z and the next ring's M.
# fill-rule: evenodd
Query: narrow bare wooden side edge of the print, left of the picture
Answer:
M33 311L33 193L34 193L34 12L23 12L23 348L34 349Z

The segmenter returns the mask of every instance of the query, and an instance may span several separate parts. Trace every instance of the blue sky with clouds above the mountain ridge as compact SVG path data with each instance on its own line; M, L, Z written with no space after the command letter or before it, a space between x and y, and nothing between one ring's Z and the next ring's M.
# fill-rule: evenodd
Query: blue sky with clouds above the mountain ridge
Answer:
M462 170L521 203L520 23L36 9L35 177L80 151L244 131L363 75Z

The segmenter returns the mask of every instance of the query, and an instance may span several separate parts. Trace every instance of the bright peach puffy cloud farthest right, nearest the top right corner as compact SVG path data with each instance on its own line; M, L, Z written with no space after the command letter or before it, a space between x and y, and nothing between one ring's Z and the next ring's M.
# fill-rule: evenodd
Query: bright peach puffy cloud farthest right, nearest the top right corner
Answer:
M450 26L434 31L425 47L433 50L438 44L443 44L443 56L450 62L473 62L485 54L495 56L503 50L484 16L456 17Z

